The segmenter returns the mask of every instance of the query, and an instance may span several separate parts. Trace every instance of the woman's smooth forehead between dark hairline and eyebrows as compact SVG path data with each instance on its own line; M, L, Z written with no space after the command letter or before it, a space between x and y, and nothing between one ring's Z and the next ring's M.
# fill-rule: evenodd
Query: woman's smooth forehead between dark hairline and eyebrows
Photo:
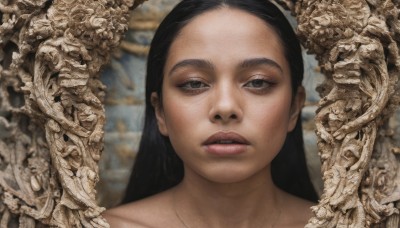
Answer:
M269 24L246 11L222 7L196 16L182 28L166 67L184 59L240 62L260 57L287 67L281 40Z

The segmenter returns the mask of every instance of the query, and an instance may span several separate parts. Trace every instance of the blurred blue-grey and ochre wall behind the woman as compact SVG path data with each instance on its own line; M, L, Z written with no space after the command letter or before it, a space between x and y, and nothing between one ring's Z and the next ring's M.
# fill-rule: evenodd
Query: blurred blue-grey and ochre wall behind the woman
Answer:
M178 0L150 0L132 12L129 31L101 79L107 86L105 148L99 164L98 201L107 208L117 205L125 191L144 119L146 56L154 31ZM296 20L285 12L292 25ZM313 56L304 53L307 90L302 120L307 163L312 182L322 192L320 161L314 133L314 115L319 95L315 91L323 81Z

